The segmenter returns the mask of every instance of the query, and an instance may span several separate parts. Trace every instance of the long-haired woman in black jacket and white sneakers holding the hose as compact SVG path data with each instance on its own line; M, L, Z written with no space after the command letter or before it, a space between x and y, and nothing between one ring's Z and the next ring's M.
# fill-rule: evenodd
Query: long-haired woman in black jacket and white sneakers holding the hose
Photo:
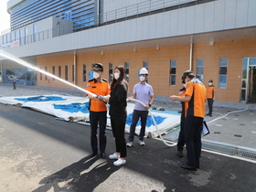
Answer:
M126 142L124 137L125 123L127 117L127 91L128 83L124 80L124 68L118 66L114 69L114 78L111 84L111 96L102 97L103 101L110 104L110 116L112 123L112 133L115 138L116 152L109 155L110 159L116 159L113 165L120 166L126 163Z

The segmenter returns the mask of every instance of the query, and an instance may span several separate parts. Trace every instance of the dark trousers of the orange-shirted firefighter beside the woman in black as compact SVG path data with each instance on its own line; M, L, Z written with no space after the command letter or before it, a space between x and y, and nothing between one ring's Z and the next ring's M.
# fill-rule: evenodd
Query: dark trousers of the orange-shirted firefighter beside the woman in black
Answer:
M91 123L91 151L92 153L98 153L98 139L97 130L98 124L100 127L100 151L105 153L107 137L106 137L106 123L107 123L107 112L90 112L90 123Z

